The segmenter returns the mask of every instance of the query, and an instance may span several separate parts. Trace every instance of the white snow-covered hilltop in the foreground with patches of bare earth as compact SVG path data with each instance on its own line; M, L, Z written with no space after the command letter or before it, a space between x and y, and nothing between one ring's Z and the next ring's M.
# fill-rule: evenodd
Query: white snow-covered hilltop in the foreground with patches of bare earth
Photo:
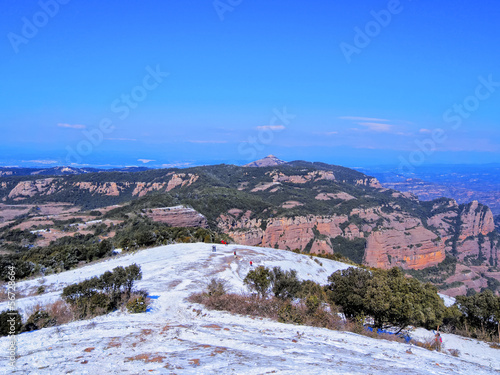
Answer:
M8 364L9 338L0 338L0 373L12 374L492 374L500 373L500 351L487 344L443 334L445 349L459 357L350 332L281 324L208 311L186 301L212 277L234 292L246 292L243 278L254 267L295 269L302 279L326 283L343 263L288 251L238 245L178 244L126 254L80 269L46 276L47 293L20 298L29 310L59 298L62 288L117 266L137 263L137 283L154 296L144 314L114 312L18 336L16 367ZM238 259L234 259L236 250ZM35 279L18 283L33 292ZM0 304L0 311L6 303ZM432 333L416 330L416 338Z

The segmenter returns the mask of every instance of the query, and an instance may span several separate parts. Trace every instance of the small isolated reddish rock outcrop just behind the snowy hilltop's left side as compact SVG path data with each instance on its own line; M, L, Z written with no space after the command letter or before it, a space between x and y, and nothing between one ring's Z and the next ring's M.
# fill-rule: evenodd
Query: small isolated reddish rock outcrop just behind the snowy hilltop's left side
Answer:
M172 227L208 228L205 216L192 208L184 206L153 208L146 215L154 221L165 223Z

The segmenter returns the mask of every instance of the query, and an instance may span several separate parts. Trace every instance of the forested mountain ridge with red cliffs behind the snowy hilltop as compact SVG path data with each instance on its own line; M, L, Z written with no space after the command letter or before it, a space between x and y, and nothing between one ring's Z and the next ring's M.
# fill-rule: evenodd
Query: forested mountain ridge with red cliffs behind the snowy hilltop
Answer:
M421 270L447 256L482 267L475 270L485 275L479 281L471 272L464 273L471 279L449 279L455 268L432 278L443 289L459 287L454 295L479 291L493 285L488 277L500 277L500 236L488 207L446 198L421 202L361 172L323 163L4 177L0 198L7 204L58 201L86 209L128 203L108 218L184 204L204 215L212 229L245 245L337 252L380 268Z

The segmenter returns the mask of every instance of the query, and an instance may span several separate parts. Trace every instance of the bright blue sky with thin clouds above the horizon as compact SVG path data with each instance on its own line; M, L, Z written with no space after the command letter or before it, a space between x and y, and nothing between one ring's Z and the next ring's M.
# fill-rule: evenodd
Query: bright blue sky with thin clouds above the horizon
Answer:
M4 0L0 165L500 162L500 3Z

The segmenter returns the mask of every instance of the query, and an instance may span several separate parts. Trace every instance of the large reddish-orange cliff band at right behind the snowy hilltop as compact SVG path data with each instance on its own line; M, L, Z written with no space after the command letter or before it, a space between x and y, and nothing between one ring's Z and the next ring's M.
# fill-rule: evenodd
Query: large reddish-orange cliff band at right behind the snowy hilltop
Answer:
M429 227L408 213L384 213L380 207L353 209L349 215L282 217L265 222L250 219L248 211L243 215L241 210L234 209L221 215L218 225L238 243L290 250L308 247L312 253L332 253L331 239L337 236L349 240L367 238L364 264L385 269L394 266L423 269L445 259L446 251L451 250L446 243L454 237L456 225L453 223L459 219L458 205L454 201L435 209L436 214L428 220ZM471 216L471 211L475 210L476 206L472 205L460 216L469 220L462 226L468 235L490 230L490 215ZM362 223L353 222L353 215L363 219ZM478 215L485 219L478 222ZM464 233L460 232L460 236ZM459 258L482 254L485 259L490 256L496 259L499 244L492 244L486 237L481 245L479 242L477 237L459 242Z

